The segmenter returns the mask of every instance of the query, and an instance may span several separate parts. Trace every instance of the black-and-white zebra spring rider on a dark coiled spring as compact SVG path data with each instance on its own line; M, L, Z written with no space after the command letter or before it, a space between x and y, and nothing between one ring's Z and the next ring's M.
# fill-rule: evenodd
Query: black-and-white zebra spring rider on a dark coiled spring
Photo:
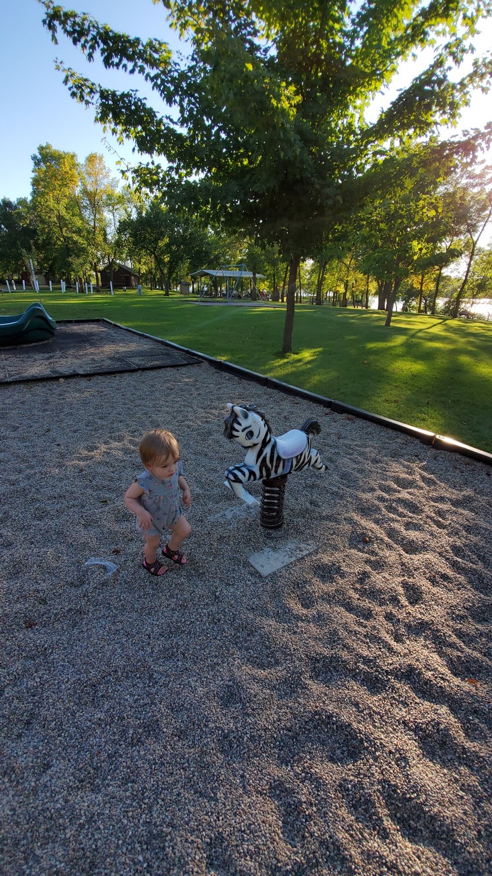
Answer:
M320 434L317 420L306 420L300 429L291 429L275 437L263 411L256 405L228 404L224 435L247 449L242 465L226 471L226 486L248 505L257 499L244 489L250 481L263 481L260 523L267 530L279 530L284 524L284 498L287 476L292 471L311 467L326 471L318 450L311 446L311 436Z

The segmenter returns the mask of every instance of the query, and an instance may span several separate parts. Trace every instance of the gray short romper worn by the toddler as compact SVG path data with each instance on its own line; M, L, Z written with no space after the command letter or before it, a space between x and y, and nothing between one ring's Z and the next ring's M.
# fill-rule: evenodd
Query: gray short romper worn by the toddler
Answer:
M147 469L145 469L143 474L138 475L136 478L137 484L144 490L139 501L144 506L145 511L152 515L152 522L149 529L141 529L138 526L137 518L135 523L137 533L142 533L143 535L162 535L173 523L178 522L185 510L181 502L181 491L178 486L179 477L185 477L183 463L180 460L178 470L172 477L166 477L165 480L152 475L151 471Z

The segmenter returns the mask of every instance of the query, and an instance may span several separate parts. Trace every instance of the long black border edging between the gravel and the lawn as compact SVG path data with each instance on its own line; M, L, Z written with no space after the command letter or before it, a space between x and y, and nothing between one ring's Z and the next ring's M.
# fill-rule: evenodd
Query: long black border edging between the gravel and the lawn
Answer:
M446 435L439 435L435 432L429 432L426 429L419 429L417 426L410 426L408 423L400 423L398 420L390 420L389 417L383 417L379 413L364 411L361 407L347 405L343 401L328 399L327 396L317 395L316 392L309 392L309 390L300 389L299 386L285 384L282 380L265 377L264 374L259 374L257 371L250 371L248 368L241 368L240 365L235 365L232 362L215 359L213 356L207 356L207 353L200 353L198 350L189 350L187 347L182 347L179 343L165 341L161 337L147 335L145 332L137 331L137 329L130 329L128 326L122 326L119 322L113 322L112 320L106 319L104 316L94 320L60 320L60 322L108 322L109 325L115 326L117 329L130 331L133 332L133 334L142 337L149 337L152 341L158 341L167 347L174 348L174 350L180 350L183 353L187 353L188 356L201 359L203 362L212 365L212 367L216 368L218 371L227 371L229 374L236 374L237 377L251 380L261 386L266 386L268 389L277 389L279 392L286 392L288 395L295 395L298 399L313 401L317 405L329 407L334 413L348 413L360 420L368 420L371 423L376 423L377 426L383 426L384 428L392 429L395 432L402 432L403 434L411 435L412 438L417 438L419 442L427 444L429 447L459 453L461 456L468 456L470 459L474 459L478 463L492 465L492 454L487 453L486 450L470 447L468 444L462 444L459 441L455 441L453 438L447 438Z

